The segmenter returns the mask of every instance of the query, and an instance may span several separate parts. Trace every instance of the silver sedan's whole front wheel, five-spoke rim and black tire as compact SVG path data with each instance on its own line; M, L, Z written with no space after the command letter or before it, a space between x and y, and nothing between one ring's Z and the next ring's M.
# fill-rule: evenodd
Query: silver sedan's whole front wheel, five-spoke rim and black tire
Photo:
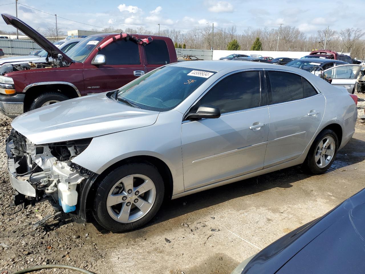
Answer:
M142 227L160 209L164 181L151 164L126 164L98 183L93 216L105 229L125 232Z

